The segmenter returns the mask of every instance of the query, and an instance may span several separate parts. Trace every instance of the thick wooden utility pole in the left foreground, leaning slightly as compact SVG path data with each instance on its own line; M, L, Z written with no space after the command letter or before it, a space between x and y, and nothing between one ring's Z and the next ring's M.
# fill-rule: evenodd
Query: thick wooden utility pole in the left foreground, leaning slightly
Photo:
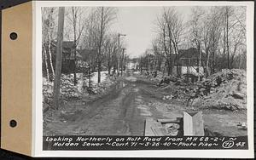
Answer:
M60 7L59 15L58 15L59 17L58 17L57 50L56 50L55 82L54 82L54 107L55 107L55 110L59 109L59 99L60 99L64 13L65 13L65 8Z

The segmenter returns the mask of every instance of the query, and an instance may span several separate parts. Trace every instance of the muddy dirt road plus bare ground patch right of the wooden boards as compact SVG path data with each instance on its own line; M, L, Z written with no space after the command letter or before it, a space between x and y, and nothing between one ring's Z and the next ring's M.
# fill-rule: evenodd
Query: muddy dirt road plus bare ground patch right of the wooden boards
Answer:
M44 135L143 135L146 118L182 117L186 110L183 105L161 98L154 83L131 74L96 100L88 102L84 97L70 102L65 111L57 112L44 126ZM246 121L244 113L203 111L203 114L205 126L213 129L214 135L247 134L236 128L236 123Z

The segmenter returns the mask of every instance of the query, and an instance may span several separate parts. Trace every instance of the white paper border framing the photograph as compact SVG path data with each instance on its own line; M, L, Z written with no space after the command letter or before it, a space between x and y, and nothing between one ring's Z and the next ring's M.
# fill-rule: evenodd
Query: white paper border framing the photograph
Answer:
M36 1L33 3L33 119L32 154L35 157L254 157L253 146L253 2L198 1ZM41 7L68 6L247 6L247 135L248 150L150 150L150 151L43 151L43 75ZM38 53L38 54L36 54Z

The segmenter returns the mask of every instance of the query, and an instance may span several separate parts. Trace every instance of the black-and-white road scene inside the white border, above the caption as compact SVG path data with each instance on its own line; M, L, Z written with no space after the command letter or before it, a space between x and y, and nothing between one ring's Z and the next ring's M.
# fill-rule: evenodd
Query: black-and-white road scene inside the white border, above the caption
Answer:
M41 16L44 141L242 137L221 147L247 148L247 6L71 5Z

